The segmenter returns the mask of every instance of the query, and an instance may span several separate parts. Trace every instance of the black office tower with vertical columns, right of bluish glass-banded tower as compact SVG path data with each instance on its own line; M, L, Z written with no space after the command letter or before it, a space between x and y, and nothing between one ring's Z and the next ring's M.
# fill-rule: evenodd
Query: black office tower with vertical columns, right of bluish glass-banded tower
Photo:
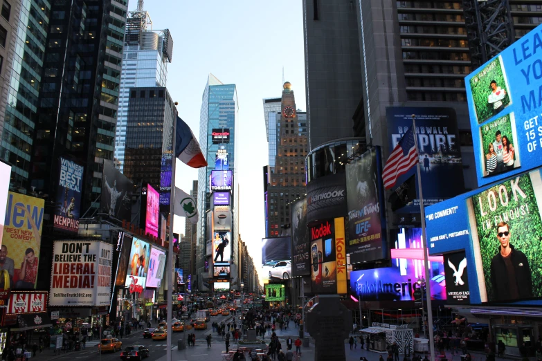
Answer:
M26 39L27 47L40 55L32 57L35 64L27 71L39 71L35 76L41 80L39 100L26 103L30 114L33 106L37 110L34 131L28 131L30 165L27 172L14 173L27 189L51 196L59 157L71 158L84 167L81 214L98 206L103 160L113 160L126 10L125 0L53 1L46 12L51 15L48 28ZM44 53L30 46L45 36Z

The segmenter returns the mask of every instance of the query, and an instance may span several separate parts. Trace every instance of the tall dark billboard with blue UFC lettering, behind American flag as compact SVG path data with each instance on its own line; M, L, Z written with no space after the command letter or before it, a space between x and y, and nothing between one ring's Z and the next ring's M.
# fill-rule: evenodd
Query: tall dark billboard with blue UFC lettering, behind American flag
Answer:
M346 165L348 243L352 263L386 258L380 148Z

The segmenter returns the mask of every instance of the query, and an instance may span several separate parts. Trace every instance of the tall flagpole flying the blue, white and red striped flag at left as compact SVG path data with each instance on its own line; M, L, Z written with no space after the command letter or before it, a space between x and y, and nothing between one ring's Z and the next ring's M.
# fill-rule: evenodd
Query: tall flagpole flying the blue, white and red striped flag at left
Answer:
M174 103L175 107L177 107L177 102ZM177 138L177 133L175 133L175 127L177 126L177 117L173 119L172 124L172 143L171 143L171 194L170 194L170 242L168 245L168 274L165 277L166 281L168 282L168 315L166 317L167 325L167 332L168 335L166 337L166 360L171 361L171 338L172 338L172 331L171 331L171 314L172 314L172 297L173 297L173 277L172 277L172 270L173 270L173 217L174 217L174 208L175 208L175 163L177 163L177 159L175 157L175 140Z

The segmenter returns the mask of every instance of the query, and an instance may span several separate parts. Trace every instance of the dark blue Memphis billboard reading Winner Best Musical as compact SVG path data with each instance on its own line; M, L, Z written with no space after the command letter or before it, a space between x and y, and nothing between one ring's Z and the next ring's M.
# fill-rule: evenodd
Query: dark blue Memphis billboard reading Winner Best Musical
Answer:
M77 233L79 230L79 208L81 206L81 189L83 166L58 158L58 185L56 208L53 216L53 227L57 230Z

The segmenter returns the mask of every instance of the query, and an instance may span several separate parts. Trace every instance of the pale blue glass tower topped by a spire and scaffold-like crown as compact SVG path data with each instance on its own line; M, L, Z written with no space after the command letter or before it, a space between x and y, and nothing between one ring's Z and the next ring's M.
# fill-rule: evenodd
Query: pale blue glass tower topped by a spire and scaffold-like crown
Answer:
M164 87L168 63L172 61L173 40L168 29L152 30L149 13L139 0L136 11L128 13L124 39L123 70L120 73L115 160L120 172L125 167L125 147L130 88Z

